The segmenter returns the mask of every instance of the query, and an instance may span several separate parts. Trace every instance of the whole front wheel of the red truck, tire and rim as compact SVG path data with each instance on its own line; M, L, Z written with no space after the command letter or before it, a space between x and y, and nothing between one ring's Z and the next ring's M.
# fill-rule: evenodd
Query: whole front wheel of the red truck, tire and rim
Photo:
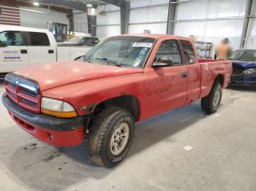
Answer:
M132 114L118 106L103 109L89 130L89 155L95 163L113 167L132 145L135 122Z

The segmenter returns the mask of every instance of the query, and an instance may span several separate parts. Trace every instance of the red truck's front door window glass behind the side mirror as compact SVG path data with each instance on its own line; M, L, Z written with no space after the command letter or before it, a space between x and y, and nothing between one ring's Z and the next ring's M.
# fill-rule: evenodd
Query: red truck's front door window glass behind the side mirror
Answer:
M181 65L181 53L176 40L162 42L157 52L157 59L159 57L170 58L173 61L174 66Z

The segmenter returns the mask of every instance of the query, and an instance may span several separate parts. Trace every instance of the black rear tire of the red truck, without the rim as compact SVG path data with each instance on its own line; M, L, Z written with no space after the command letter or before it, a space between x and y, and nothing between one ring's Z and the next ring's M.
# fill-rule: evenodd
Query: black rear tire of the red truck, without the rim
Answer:
M217 106L214 106L214 95L217 90L220 90L220 98ZM211 92L204 98L201 98L201 108L206 114L212 114L217 112L219 108L220 101L222 101L222 85L219 82L214 82L211 87Z

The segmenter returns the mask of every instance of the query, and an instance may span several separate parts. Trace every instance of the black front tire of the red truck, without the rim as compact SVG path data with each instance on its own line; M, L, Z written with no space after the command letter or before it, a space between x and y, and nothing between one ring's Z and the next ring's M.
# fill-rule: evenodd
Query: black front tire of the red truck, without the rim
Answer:
M129 125L129 139L127 146L120 155L112 155L110 139L113 131L121 122L127 122ZM135 120L127 109L118 106L103 109L94 117L94 122L92 122L89 130L89 155L91 159L108 168L120 163L132 146L134 129Z

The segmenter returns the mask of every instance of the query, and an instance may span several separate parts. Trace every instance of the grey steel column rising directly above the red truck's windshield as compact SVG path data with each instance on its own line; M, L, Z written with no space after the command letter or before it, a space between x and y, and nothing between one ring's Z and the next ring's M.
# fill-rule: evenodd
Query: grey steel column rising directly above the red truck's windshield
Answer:
M121 17L121 34L129 33L129 0L121 1L120 5L120 17Z

